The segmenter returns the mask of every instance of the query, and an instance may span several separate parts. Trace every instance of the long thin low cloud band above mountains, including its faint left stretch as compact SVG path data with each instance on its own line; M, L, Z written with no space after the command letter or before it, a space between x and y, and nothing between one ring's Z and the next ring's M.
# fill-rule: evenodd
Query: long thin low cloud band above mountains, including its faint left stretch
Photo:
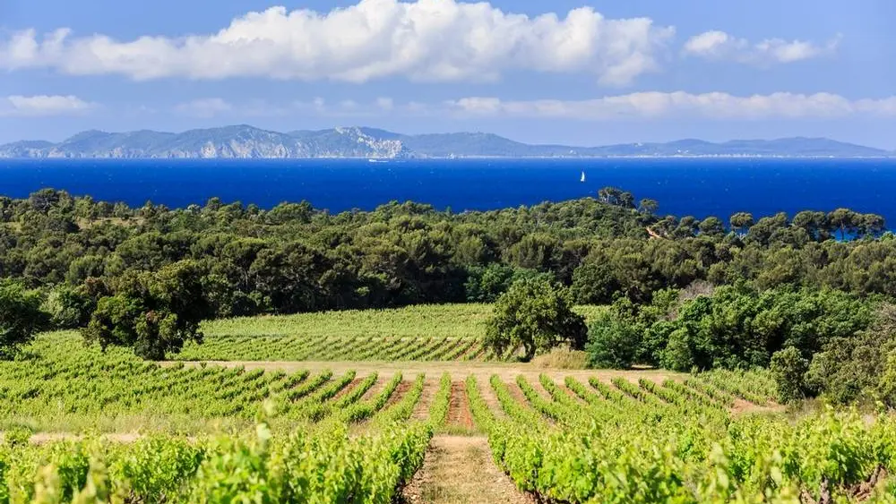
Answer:
M229 120L256 116L315 115L331 118L382 118L391 116L554 118L584 121L652 119L805 119L848 116L896 118L896 96L849 99L832 93L735 96L724 92L692 94L685 91L647 91L583 100L504 100L466 97L443 102L398 102L376 98L362 102L350 98L326 102L322 98L290 103L251 100L229 103L220 98L195 100L176 107L178 112Z

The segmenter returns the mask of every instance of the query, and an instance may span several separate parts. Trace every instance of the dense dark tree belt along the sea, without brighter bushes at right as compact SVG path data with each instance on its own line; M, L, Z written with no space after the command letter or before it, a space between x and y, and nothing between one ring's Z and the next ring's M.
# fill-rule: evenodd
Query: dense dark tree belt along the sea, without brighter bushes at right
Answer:
M576 303L650 303L697 280L896 295L896 241L879 216L700 220L635 201L605 188L486 212L392 202L331 214L305 201L129 208L43 190L0 198L0 278L39 289L56 327L108 344L177 338L203 318L494 301L521 278L570 286Z

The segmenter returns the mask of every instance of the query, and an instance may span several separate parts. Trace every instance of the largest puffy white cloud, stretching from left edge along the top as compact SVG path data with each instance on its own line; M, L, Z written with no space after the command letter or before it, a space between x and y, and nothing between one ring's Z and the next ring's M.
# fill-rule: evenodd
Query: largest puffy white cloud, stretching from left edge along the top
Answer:
M512 70L593 73L625 84L656 70L674 35L648 18L607 19L590 7L530 17L488 3L359 0L329 13L272 7L214 34L182 38L74 37L24 30L0 42L0 68L47 67L75 75L263 77L363 82L489 81Z

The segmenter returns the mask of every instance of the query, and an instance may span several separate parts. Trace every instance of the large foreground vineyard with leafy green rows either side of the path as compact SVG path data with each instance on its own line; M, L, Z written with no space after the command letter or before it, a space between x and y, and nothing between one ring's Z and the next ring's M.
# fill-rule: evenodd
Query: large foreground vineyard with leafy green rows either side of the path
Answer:
M247 371L56 334L0 395L0 502L428 501L451 433L540 500L896 501L896 421L795 418L762 372Z

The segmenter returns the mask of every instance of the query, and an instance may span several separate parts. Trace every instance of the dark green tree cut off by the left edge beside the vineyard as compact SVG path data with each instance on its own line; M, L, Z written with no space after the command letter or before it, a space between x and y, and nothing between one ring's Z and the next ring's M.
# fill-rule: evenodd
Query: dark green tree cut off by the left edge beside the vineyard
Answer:
M46 324L38 292L9 280L0 283L0 359L13 358Z

